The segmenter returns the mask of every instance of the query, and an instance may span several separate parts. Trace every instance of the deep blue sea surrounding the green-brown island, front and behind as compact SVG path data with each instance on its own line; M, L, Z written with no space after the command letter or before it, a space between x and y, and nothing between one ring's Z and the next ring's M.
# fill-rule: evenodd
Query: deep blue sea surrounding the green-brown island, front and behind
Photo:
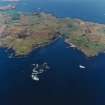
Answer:
M105 23L104 0L23 0L16 6L18 11ZM1 48L0 105L105 105L105 54L88 58L68 47L60 38L18 58L9 58L7 49ZM50 69L39 75L39 81L32 80L32 64L43 62Z

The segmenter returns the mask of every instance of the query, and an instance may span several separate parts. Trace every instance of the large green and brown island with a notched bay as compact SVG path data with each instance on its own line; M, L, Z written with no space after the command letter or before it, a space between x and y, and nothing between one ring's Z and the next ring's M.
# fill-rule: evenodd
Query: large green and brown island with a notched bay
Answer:
M13 49L16 56L46 46L58 38L86 56L105 51L105 25L50 13L0 13L0 47Z

